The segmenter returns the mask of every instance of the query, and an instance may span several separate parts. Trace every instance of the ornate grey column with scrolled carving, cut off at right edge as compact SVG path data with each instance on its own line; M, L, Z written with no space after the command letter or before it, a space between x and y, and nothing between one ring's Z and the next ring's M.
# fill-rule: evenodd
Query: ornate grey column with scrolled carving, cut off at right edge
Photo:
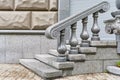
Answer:
M120 0L116 0L116 7L120 9ZM112 12L113 19L106 20L106 32L116 35L117 53L120 55L120 10Z

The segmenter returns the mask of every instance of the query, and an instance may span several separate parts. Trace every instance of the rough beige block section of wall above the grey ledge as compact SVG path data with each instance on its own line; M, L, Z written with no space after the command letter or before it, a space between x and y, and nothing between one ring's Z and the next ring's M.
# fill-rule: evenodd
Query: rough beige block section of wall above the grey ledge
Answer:
M45 30L57 22L57 0L0 0L0 30Z

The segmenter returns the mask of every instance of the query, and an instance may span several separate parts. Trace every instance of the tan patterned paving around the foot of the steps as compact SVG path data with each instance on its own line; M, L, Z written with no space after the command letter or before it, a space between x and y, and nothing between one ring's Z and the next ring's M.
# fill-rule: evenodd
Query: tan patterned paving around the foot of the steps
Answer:
M19 64L0 64L0 80L42 80ZM107 73L85 74L56 80L120 80L120 76Z

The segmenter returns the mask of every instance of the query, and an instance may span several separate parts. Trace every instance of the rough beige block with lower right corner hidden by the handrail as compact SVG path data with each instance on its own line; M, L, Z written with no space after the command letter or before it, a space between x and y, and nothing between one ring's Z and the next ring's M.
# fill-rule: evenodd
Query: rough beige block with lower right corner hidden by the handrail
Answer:
M32 29L45 30L57 22L57 12L32 12Z

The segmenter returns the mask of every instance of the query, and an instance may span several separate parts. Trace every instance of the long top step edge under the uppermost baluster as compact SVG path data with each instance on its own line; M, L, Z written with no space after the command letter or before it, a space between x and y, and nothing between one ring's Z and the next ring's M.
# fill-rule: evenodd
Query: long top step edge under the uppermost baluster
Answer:
M116 41L91 41L90 45L93 47L116 47Z

